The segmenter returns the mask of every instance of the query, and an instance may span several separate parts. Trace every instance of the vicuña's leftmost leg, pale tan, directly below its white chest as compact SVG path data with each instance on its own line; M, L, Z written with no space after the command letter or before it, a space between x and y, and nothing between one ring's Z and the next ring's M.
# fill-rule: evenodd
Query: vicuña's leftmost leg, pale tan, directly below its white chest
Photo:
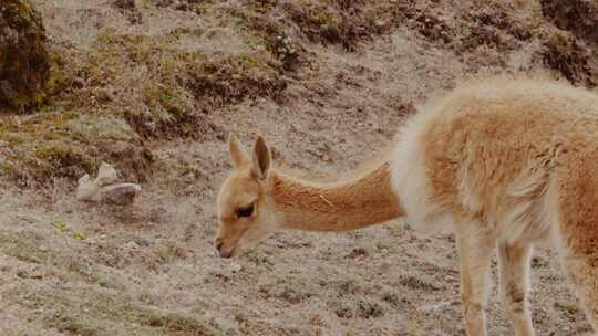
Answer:
M457 223L461 261L461 303L468 336L486 335L485 306L489 283L493 238L481 223Z

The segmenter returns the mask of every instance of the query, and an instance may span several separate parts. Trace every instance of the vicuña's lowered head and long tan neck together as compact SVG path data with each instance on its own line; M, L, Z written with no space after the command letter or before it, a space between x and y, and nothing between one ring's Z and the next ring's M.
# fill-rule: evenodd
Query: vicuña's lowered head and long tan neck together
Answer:
M235 135L228 144L233 171L218 196L215 242L220 256L238 255L279 229L348 231L400 214L388 162L347 181L321 185L274 168L261 136L250 155Z

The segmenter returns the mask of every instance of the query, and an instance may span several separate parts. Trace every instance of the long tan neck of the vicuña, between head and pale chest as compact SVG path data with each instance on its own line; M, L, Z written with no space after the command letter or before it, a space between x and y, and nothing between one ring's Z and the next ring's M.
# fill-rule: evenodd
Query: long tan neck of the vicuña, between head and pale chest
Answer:
M274 171L271 188L285 229L349 231L404 214L392 191L389 162L354 179L329 185Z

